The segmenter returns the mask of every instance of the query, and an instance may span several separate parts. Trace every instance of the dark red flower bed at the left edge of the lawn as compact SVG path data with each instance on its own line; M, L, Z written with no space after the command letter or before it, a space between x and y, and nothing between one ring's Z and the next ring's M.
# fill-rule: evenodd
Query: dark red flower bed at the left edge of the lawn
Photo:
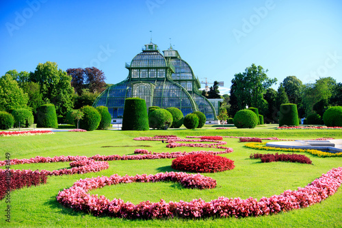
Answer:
M0 169L0 200L6 197L12 190L25 186L39 186L47 183L47 173L38 170L3 170Z

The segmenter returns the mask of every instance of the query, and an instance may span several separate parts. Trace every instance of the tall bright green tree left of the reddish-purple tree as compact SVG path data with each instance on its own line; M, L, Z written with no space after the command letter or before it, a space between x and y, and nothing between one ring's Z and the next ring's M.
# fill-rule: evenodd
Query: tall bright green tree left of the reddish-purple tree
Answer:
M56 107L57 115L66 116L73 108L73 87L71 76L58 68L55 62L38 64L36 71L30 74L30 80L40 85L40 93L45 102Z

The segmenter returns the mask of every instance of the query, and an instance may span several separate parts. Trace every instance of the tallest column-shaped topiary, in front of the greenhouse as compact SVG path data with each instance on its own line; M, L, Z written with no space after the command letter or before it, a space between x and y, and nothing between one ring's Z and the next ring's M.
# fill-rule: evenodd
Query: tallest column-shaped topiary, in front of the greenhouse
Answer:
M147 131L148 129L145 100L138 97L127 98L124 101L122 130Z

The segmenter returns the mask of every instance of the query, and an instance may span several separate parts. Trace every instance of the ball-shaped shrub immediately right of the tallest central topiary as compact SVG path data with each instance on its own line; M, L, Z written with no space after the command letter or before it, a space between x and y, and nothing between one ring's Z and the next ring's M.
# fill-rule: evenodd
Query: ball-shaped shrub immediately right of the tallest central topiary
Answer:
M172 125L172 114L168 110L157 109L148 116L148 125L153 129L168 129Z

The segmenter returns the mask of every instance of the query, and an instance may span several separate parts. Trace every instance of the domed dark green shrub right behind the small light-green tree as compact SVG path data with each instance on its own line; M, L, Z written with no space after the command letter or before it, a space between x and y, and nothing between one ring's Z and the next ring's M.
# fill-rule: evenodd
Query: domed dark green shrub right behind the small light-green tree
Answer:
M84 116L79 120L79 128L87 131L94 131L100 125L101 114L95 109L95 107L86 105L81 107L81 112Z

